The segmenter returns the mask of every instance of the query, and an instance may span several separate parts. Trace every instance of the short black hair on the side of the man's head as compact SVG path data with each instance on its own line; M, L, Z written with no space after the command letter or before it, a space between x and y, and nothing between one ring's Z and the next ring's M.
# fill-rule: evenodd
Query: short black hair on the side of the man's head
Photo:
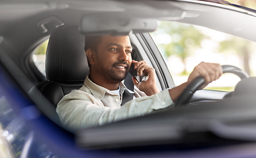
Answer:
M97 51L98 49L98 45L101 42L101 37L102 36L88 36L85 35L85 51L87 51L87 49L91 48L94 51ZM87 63L89 68L91 68L91 64L87 58Z

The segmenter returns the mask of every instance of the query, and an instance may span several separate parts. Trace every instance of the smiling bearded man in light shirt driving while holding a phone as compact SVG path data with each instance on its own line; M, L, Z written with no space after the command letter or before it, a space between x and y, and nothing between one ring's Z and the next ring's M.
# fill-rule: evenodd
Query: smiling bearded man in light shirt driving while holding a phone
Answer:
M222 74L220 65L200 63L194 68L187 82L159 92L155 84L155 70L145 61L132 61L129 36L86 38L85 51L90 74L87 75L83 87L65 95L56 109L62 124L72 130L138 117L169 107L197 76L203 76L206 80L202 86L204 88ZM132 63L139 76L148 76L148 80L140 83L133 78L134 85L148 96L132 99L120 106L122 93L125 90L130 92L122 84L122 80L128 74Z

